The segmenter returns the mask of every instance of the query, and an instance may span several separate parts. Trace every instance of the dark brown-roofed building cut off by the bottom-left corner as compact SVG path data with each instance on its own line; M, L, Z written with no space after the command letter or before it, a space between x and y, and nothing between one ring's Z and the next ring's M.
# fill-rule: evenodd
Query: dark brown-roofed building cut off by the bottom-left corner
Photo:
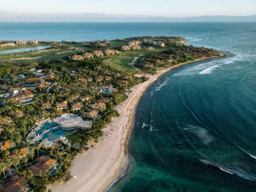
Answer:
M33 191L30 186L28 180L22 175L14 175L9 182L0 185L0 191L4 192L27 192Z

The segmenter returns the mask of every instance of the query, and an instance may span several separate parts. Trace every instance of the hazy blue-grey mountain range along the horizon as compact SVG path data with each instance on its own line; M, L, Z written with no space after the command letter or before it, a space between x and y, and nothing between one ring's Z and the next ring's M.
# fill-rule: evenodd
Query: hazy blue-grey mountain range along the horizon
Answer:
M0 21L51 21L51 22L254 22L250 16L200 16L200 17L155 17L148 15L106 15L101 13L4 13Z

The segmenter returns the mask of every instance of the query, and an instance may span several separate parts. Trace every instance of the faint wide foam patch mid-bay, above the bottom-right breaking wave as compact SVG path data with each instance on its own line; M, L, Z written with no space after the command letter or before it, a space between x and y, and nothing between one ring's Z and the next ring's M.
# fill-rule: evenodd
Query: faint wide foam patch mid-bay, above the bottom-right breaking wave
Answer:
M196 134L200 140L205 143L205 145L211 143L214 140L214 137L207 131L207 129L204 129L202 127L196 127L193 125L188 125L184 130L188 130Z

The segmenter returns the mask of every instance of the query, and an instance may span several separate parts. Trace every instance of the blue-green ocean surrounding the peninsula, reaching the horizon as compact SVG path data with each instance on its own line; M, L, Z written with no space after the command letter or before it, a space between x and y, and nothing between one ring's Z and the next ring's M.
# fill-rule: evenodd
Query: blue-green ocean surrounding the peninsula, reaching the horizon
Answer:
M131 166L108 191L256 191L256 23L1 22L1 40L184 36L225 58L164 74L138 104Z

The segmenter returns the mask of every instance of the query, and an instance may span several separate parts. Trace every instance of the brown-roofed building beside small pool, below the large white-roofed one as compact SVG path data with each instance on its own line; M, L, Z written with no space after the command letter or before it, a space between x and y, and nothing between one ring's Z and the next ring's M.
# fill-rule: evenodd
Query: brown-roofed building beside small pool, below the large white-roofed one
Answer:
M41 177L45 172L56 166L56 163L57 161L55 159L51 159L49 156L42 156L38 159L38 163L29 167L28 170L33 172L35 176Z

